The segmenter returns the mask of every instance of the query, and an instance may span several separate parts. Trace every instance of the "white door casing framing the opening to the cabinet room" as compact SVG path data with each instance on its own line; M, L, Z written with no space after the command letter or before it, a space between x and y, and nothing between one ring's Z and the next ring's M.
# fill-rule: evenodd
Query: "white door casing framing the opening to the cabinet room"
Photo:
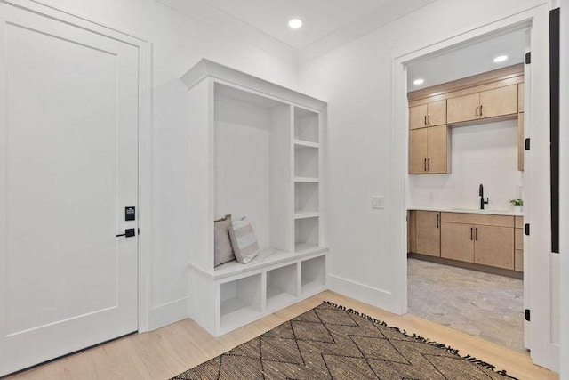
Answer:
M525 279L530 292L532 322L529 325L532 345L531 357L535 364L552 370L559 368L559 346L553 343L551 331L550 245L549 245L549 171L539 170L549 166L549 130L537 125L549 125L549 51L545 42L549 38L549 9L551 2L544 2L525 12L489 23L480 28L464 31L436 44L419 46L411 52L398 54L392 61L392 144L396 155L392 161L391 206L392 215L391 263L396 279L393 283L393 310L407 312L407 269L405 215L409 199L407 175L408 147L406 138L407 77L406 63L421 56L441 51L456 44L463 44L496 32L528 29L531 34L532 63L525 68L530 85L526 85L525 135L532 138L531 153L525 152L525 222L532 224L532 236L525 237L525 268L531 275ZM535 125L534 127L532 127ZM534 168L534 170L532 170ZM530 177L532 178L530 182ZM531 254L531 255L530 255ZM528 325L526 324L526 327Z

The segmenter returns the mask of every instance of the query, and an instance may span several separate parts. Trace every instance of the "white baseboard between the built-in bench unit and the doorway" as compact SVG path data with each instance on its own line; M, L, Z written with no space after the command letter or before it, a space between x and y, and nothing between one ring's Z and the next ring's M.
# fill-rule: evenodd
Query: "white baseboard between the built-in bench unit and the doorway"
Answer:
M385 311L395 312L393 294L386 290L369 287L351 279L343 279L332 274L327 276L326 285L333 292L355 298L363 303L369 303Z

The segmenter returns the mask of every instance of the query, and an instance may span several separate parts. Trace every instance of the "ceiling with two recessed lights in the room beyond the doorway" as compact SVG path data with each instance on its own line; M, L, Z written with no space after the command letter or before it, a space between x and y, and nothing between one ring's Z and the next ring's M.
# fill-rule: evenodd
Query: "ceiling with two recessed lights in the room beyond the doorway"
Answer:
M524 47L525 30L517 30L413 61L407 65L407 91L521 63L524 61ZM502 54L508 55L508 61L494 63L493 59ZM417 78L425 82L413 85Z

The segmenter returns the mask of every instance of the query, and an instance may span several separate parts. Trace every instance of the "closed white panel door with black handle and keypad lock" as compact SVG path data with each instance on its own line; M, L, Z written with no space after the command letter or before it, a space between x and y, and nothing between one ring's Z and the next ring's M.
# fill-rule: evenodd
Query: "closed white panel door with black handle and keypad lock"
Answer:
M137 330L138 49L0 4L0 376Z

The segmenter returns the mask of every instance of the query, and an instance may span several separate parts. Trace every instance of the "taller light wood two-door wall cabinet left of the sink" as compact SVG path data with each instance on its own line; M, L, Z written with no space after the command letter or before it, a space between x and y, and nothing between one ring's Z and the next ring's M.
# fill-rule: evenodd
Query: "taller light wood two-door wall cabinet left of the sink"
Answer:
M409 174L450 172L446 125L414 129L409 132Z

